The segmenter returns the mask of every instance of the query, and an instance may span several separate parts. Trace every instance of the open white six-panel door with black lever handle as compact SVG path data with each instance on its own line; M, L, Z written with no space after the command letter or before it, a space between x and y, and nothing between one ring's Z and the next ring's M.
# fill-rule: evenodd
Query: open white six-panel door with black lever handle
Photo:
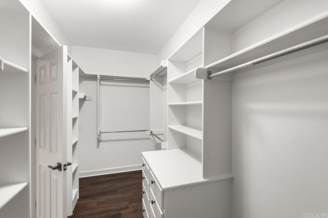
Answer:
M61 46L36 60L37 218L63 218L67 214L67 171L64 171L64 164L67 164L65 58L67 47Z

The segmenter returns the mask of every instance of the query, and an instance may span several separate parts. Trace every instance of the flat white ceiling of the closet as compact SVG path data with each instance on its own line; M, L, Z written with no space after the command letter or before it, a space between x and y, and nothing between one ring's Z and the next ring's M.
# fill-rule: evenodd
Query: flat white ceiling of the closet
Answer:
M200 0L42 0L73 45L157 54Z

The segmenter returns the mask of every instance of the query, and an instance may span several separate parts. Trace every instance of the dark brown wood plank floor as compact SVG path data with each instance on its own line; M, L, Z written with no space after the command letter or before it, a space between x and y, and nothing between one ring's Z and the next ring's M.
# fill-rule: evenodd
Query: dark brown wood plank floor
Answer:
M70 218L142 218L141 171L81 178Z

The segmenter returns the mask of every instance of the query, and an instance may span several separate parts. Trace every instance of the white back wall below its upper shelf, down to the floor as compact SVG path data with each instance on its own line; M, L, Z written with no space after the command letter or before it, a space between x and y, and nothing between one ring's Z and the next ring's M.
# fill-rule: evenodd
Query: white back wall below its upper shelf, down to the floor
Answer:
M80 101L80 177L117 173L141 168L141 152L155 149L155 143L139 133L104 134L97 143L95 79L80 78L79 91L92 96ZM103 82L101 85L102 130L149 129L149 84Z

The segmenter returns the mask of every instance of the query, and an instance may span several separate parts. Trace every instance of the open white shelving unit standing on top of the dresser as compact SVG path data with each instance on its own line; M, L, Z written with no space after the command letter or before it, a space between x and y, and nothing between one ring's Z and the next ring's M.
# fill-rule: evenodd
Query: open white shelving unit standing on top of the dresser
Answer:
M203 81L195 77L202 67L202 31L198 31L170 58L168 64L168 150L185 149L202 159ZM196 68L195 68L196 67Z

